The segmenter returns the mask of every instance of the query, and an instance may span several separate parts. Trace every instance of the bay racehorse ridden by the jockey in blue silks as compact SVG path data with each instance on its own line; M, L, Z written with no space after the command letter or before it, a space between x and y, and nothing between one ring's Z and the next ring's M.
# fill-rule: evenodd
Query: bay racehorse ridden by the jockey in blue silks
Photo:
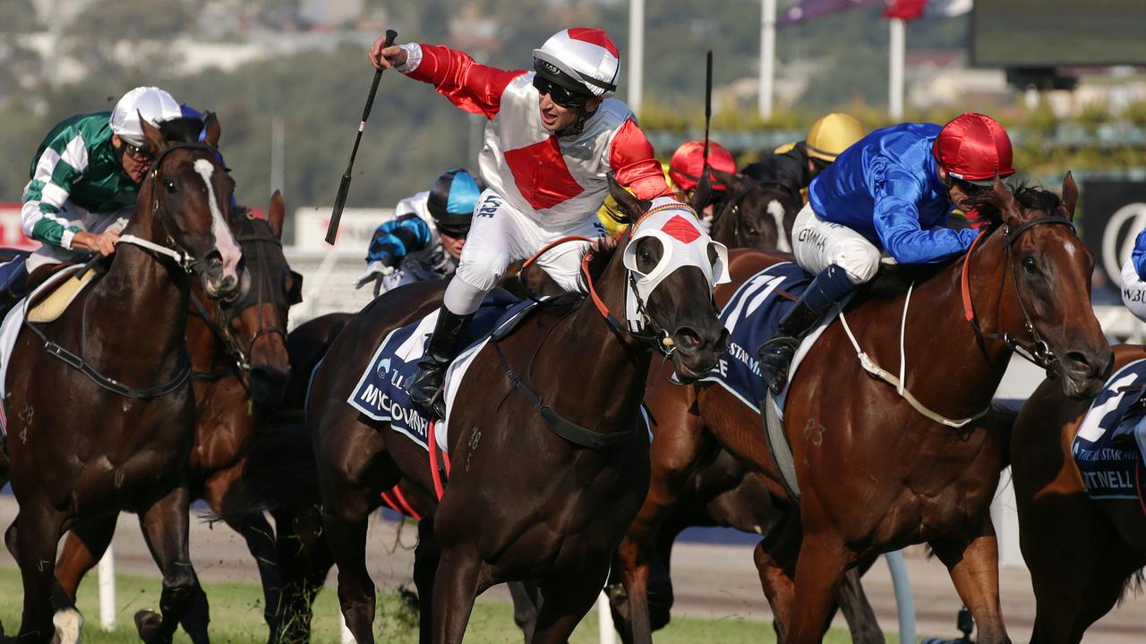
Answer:
M872 290L848 307L849 328L866 356L894 366L901 346L910 348L904 395L958 429L917 411L896 387L855 363L841 368L841 356L858 350L838 323L811 347L787 394L798 502L780 484L759 415L723 387L694 385L692 402L673 394L675 407L652 406L660 424L677 427L674 434L686 445L702 446L698 432L711 432L764 473L772 496L792 510L755 552L784 642L819 641L847 568L919 542L928 542L948 566L980 626L979 642L1007 641L988 513L1002 460L986 416L991 394L1015 347L1059 374L1074 396L1093 395L1112 363L1089 306L1093 261L1070 225L1076 201L1069 175L1061 202L1033 188L1012 194L996 182L991 203L981 209L995 213L992 225L971 252L945 266L903 268L900 277L911 290ZM736 253L733 281L717 289L717 304L777 260ZM926 316L908 315L909 301ZM901 320L902 340L889 332ZM650 400L659 388L651 387ZM821 392L831 392L830 405ZM693 462L685 449L674 471ZM672 478L654 480L652 489L672 495L674 485Z

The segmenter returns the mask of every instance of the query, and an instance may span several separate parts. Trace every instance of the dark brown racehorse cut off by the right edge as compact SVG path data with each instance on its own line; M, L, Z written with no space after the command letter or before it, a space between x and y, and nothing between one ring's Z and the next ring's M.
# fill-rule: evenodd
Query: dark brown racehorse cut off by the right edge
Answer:
M1115 369L1143 359L1143 346L1114 347ZM1086 628L1140 583L1146 566L1143 506L1086 494L1072 445L1090 403L1059 388L1046 380L1035 390L1011 442L1019 543L1035 588L1033 644L1082 642Z

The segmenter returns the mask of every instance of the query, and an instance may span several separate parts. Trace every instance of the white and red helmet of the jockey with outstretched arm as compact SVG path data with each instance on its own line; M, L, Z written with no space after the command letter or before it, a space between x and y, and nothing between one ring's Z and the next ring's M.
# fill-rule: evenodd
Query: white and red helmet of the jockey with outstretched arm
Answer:
M607 99L617 92L621 61L617 45L604 31L572 28L558 31L541 49L533 50L533 69L558 85Z

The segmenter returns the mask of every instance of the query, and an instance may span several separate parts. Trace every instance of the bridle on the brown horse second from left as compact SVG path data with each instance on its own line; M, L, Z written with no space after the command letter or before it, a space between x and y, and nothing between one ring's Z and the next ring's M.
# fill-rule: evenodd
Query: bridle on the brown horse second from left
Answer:
M243 382L242 376L249 375L251 371L250 352L254 347L254 343L262 336L270 333L276 333L282 337L284 343L286 341L285 328L266 323L262 315L264 303L269 301L276 306L283 305L284 307L297 304L290 301L291 298L283 296L281 289L276 288L275 270L270 266L270 259L267 257L266 246L269 244L282 249L282 241L269 234L269 231L261 233L257 230L253 226L256 221L253 217L248 214L248 218L252 222L251 231L236 235L235 239L243 246L244 259L250 260L252 257L254 258L254 270L251 269L252 266L250 264L246 266L248 275L252 273L257 275L251 281L251 286L253 288L240 298L226 303L226 305L221 301L215 301L211 309L194 292L191 293L191 305L195 308L195 314L203 320L227 358L227 368L215 371L195 371L191 374L191 377L196 380L217 382L229 374L235 374L240 376L240 383L243 384L244 388L246 384ZM253 246L253 252L251 246ZM297 292L298 290L299 284L296 284L292 292ZM231 331L231 321L252 306L256 307L258 327L251 335L251 338L246 340L244 347L244 344Z

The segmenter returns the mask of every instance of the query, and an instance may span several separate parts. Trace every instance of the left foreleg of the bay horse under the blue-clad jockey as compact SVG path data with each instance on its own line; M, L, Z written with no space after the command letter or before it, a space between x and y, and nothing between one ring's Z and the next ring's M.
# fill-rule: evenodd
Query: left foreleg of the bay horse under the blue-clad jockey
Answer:
M785 644L823 641L850 558L834 534L817 532L803 536L795 565L792 622L782 638Z

